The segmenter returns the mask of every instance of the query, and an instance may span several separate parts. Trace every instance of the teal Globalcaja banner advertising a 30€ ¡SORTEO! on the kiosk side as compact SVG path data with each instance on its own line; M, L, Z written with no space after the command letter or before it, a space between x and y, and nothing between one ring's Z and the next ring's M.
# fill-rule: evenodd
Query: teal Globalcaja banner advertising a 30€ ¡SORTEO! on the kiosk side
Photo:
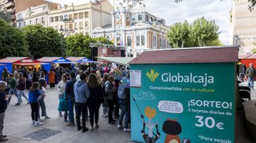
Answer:
M235 64L131 64L132 140L235 142Z

